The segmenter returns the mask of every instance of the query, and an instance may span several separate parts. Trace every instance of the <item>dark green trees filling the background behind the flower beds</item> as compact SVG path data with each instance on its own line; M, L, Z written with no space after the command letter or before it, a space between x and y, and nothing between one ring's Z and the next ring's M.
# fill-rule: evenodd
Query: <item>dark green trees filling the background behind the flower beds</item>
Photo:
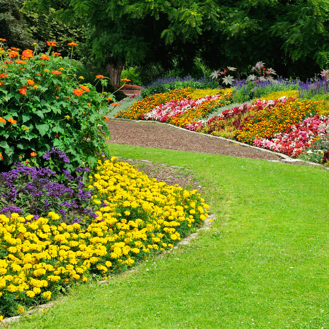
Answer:
M258 61L279 76L306 79L329 64L327 0L0 0L0 37L8 46L80 42L76 59L118 83L123 66L147 77Z

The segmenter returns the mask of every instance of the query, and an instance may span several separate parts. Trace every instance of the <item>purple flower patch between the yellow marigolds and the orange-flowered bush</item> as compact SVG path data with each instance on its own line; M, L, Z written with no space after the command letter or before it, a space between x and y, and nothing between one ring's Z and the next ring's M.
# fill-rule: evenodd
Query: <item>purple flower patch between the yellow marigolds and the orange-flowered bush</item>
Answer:
M55 151L61 160L69 161L65 153ZM46 157L51 156L51 152ZM28 167L15 163L9 172L0 173L0 214L17 212L35 215L34 218L54 211L63 219L81 220L75 213L79 206L91 204L91 190L85 190L83 173L88 168L79 168L77 177L68 170L57 175L48 167Z

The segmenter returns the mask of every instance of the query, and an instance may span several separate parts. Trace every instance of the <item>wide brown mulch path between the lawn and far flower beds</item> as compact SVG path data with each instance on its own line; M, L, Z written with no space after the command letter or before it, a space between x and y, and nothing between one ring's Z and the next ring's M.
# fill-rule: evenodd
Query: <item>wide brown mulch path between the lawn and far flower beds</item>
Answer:
M266 151L216 139L210 135L195 134L154 121L110 119L108 126L111 132L110 143L231 155L239 158L281 160L281 157Z

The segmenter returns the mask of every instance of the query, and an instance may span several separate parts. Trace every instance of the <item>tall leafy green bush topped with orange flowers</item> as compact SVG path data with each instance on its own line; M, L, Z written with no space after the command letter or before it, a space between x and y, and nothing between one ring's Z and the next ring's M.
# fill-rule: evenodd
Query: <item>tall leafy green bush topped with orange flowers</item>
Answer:
M72 46L73 47L73 46ZM18 53L2 67L0 87L0 152L5 165L41 156L52 147L63 150L77 167L87 162L92 168L97 154L109 155L104 138L110 132L102 117L112 107L106 93L99 93L75 75L68 57L37 55L33 51L24 61ZM22 57L24 58L24 57ZM104 79L97 79L104 83ZM84 89L84 90L83 90ZM107 110L106 110L107 109Z

